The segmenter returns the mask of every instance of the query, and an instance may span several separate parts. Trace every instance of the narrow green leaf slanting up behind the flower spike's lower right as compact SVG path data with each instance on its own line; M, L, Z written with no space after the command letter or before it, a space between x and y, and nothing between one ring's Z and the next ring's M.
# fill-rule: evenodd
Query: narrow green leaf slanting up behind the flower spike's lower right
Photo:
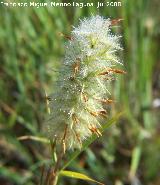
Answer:
M117 122L117 120L120 118L120 116L123 114L123 112L118 113L115 115L112 119L107 121L107 123L103 124L102 129L100 130L101 133L104 132L108 127L113 125ZM81 150L76 150L70 157L69 161L67 161L61 170L64 170L81 152L83 152L93 141L97 139L97 135L92 135L91 138L89 138L87 141L84 142L83 147Z

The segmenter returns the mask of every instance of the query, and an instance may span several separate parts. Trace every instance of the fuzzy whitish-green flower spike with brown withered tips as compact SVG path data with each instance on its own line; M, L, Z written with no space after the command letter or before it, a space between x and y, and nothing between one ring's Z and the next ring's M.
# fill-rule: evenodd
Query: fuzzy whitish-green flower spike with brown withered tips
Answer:
M115 22L115 21L114 21ZM113 21L92 16L80 21L71 32L60 75L51 95L48 132L64 152L81 148L92 134L101 135L101 119L107 117L104 104L113 100L106 97L107 83L115 74L121 61L120 36L111 33Z

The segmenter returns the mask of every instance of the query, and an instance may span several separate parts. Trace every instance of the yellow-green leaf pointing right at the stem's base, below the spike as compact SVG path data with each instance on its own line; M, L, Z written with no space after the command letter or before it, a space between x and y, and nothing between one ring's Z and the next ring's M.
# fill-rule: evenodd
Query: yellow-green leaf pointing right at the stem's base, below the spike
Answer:
M71 177L71 178L75 178L75 179L81 179L81 180L85 180L85 181L91 181L91 182L95 182L97 184L101 184L104 185L101 182L98 182L90 177L88 177L87 175L84 175L82 173L78 173L78 172L73 172L73 171L66 171L66 170L62 170L60 172L60 175L62 176L66 176L66 177Z

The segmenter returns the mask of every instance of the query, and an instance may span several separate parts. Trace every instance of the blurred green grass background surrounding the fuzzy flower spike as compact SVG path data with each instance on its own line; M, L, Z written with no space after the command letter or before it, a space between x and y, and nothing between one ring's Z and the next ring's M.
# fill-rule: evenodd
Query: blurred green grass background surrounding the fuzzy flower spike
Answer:
M115 32L123 36L127 74L114 82L111 117L125 113L68 169L107 185L160 184L160 1L122 0L121 7L99 9L1 4L0 185L38 184L43 164L50 163L48 145L17 138L43 136L44 90L54 90L64 56L66 39L59 32L69 35L79 18L97 14L124 19ZM94 183L63 177L59 184Z

